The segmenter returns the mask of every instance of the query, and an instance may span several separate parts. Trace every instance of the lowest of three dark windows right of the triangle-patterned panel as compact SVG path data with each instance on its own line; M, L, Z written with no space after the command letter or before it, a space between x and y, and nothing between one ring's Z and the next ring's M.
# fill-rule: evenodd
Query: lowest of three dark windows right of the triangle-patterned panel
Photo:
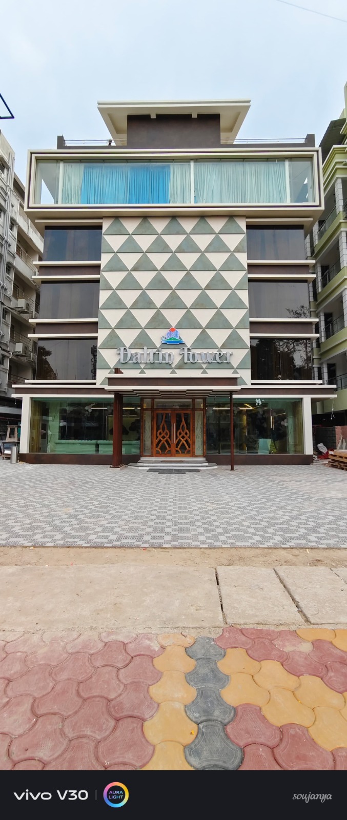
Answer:
M250 339L255 380L311 380L311 339Z

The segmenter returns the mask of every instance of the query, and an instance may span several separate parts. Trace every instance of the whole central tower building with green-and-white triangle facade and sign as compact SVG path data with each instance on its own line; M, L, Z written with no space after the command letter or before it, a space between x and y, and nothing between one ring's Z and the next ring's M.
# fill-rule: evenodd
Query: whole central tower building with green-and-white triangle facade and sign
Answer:
M29 156L44 248L21 458L312 462L311 399L332 395L311 364L313 135L235 143L244 100L98 109L106 144Z

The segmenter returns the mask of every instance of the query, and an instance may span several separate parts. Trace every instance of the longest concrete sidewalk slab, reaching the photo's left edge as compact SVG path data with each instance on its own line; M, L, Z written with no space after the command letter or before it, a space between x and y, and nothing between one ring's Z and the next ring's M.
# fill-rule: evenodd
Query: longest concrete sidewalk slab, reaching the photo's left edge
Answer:
M223 625L210 567L1 567L0 583L4 630Z

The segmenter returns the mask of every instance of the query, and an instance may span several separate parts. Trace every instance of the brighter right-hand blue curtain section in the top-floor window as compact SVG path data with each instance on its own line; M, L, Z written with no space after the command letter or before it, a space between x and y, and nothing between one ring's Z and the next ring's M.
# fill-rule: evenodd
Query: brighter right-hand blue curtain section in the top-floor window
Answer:
M127 202L130 204L168 203L170 194L169 165L128 165Z

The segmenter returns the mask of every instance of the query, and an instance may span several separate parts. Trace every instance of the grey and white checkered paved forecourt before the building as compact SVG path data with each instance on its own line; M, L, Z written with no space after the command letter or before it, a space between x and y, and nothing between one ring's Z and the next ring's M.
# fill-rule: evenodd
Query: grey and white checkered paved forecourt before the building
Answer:
M162 476L0 460L0 486L4 546L347 546L347 474L322 464Z

